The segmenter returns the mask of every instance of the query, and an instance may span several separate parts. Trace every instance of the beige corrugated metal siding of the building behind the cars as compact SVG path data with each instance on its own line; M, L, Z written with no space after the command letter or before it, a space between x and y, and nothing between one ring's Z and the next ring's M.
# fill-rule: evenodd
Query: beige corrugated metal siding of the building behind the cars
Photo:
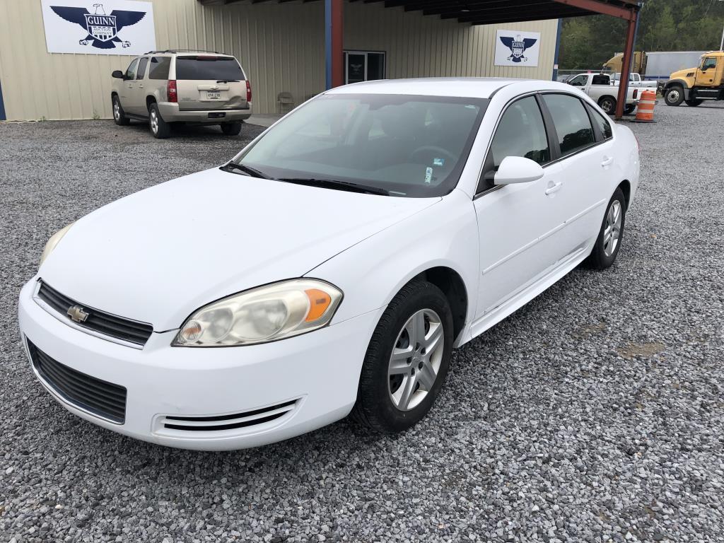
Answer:
M324 90L324 3L202 6L152 0L158 49L234 54L253 86L253 108L277 111ZM92 4L89 0L89 5ZM536 77L552 74L557 22L471 27L376 4L345 5L345 49L387 53L387 77ZM494 67L495 30L542 33L539 67ZM0 1L0 82L8 119L110 117L111 72L131 56L49 54L40 0Z

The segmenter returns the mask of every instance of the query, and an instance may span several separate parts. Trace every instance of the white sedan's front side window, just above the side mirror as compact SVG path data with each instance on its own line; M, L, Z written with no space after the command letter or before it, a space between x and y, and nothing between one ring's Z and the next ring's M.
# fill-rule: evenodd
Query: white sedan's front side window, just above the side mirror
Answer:
M490 143L490 153L496 169L506 156L523 156L538 164L550 161L543 116L534 96L521 98L505 110Z

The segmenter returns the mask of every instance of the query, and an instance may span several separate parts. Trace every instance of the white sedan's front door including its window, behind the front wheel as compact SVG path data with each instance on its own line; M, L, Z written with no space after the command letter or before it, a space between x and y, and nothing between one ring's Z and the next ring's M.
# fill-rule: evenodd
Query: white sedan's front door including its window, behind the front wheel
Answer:
M560 243L563 173L551 162L535 96L510 104L495 130L484 170L487 178L506 156L523 156L544 167L537 181L495 186L485 181L474 200L480 239L477 318L543 277L567 251Z

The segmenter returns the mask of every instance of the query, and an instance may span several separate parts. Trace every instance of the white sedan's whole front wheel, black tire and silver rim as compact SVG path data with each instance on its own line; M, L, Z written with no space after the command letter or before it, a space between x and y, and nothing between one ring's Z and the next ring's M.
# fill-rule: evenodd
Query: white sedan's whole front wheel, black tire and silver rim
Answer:
M367 348L352 417L378 432L404 432L432 408L452 355L452 312L429 282L405 285Z

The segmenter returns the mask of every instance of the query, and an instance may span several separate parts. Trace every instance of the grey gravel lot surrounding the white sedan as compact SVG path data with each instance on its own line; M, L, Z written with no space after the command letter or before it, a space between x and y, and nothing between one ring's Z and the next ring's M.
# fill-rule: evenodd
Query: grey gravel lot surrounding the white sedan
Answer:
M422 424L224 453L56 405L17 294L52 232L259 129L0 124L0 542L723 541L724 107L656 114L631 124L644 170L615 268L574 271L458 350Z

